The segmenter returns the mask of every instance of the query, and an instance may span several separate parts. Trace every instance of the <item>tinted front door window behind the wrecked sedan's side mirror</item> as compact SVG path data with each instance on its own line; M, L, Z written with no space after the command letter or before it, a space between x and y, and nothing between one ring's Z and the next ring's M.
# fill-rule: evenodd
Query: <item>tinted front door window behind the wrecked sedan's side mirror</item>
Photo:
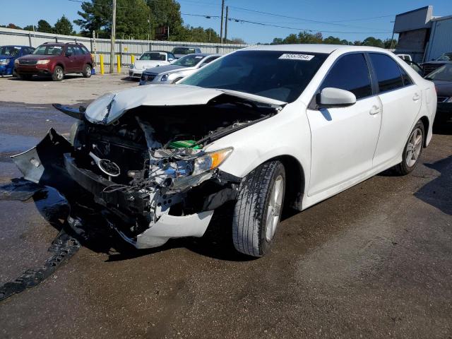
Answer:
M320 90L333 87L349 90L357 100L372 95L369 67L364 54L346 54L331 67Z

